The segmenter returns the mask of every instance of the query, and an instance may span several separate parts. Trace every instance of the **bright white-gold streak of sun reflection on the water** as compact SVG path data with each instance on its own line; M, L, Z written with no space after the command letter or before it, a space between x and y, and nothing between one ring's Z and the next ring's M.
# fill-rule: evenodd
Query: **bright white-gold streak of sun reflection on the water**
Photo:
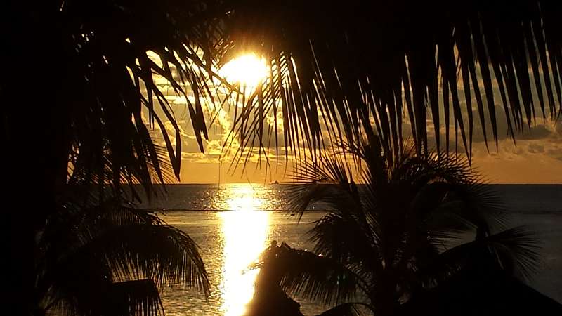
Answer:
M258 270L248 270L268 244L269 213L258 211L263 201L249 185L228 187L232 211L218 213L222 221L223 269L221 312L226 316L244 315L254 295Z

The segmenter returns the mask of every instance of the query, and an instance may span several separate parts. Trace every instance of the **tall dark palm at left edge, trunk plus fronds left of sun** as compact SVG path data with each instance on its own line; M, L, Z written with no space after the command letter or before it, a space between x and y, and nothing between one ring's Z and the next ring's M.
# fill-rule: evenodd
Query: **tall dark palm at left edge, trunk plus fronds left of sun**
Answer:
M8 313L38 309L36 236L65 213L72 186L97 187L103 197L106 185L119 195L124 183L140 184L150 195L152 183L178 178L180 128L156 75L185 96L202 147L201 103L214 100L215 8L214 1L181 0L4 4L0 164L9 211L1 251L10 258Z

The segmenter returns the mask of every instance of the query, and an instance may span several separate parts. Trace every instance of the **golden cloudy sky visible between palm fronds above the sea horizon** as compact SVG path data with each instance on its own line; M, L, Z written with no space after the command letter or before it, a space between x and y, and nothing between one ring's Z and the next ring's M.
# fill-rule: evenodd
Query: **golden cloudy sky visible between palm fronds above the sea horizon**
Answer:
M166 88L165 82L162 82L161 86L164 91L171 91ZM459 96L462 95L463 91L460 89ZM277 150L275 145L266 146L269 164L266 163L263 154L258 156L257 152L251 154L245 168L244 164L233 162L234 153L240 145L237 137L229 134L234 124L234 105L221 107L212 105L208 102L209 100L203 102L209 140L203 140L204 153L201 153L191 128L185 97L167 93L166 98L169 100L176 115L176 121L181 128L181 183L269 183L273 180L280 182L289 180L287 177L290 174L292 160L289 159L288 162L285 160L285 149L282 146ZM495 100L501 102L499 93L498 96L495 96ZM476 104L476 100L473 100L473 104ZM535 102L535 104L538 103ZM462 101L463 105L464 101ZM466 105L463 108L466 116ZM481 126L476 122L478 121L477 113L473 113L475 115L473 168L480 172L489 183L562 183L562 122L549 119L548 113L547 119L542 119L542 114L537 109L535 124L531 129L526 129L523 134L518 134L516 143L514 143L507 136L503 108L496 105L495 110L498 122L497 149L493 140L488 140L489 150L487 150ZM282 129L282 124L279 122L280 113L277 113L277 116L277 127ZM428 113L428 117L431 117L431 114ZM406 117L404 122L404 133L410 133ZM266 116L266 124L274 124L273 114ZM488 131L491 131L488 121L486 124ZM428 124L428 135L434 133L431 130L432 126L433 124ZM166 122L166 130L174 135L173 127L169 122ZM155 132L158 132L157 127ZM444 131L440 132L444 134ZM491 138L490 132L488 133ZM171 140L172 143L176 142L175 137L172 137ZM233 140L230 152L223 150L223 144L227 140ZM462 149L460 151L462 154Z

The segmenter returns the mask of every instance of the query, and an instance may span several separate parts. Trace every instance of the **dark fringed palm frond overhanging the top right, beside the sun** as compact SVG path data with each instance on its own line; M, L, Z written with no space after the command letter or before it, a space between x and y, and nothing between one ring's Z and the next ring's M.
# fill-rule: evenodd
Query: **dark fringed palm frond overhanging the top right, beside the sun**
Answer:
M279 111L295 154L329 145L322 129L353 143L375 126L384 147L411 133L418 153L454 140L471 157L475 128L497 145L560 112L561 13L549 0L233 1L223 55L271 66L237 131L262 140L263 113Z

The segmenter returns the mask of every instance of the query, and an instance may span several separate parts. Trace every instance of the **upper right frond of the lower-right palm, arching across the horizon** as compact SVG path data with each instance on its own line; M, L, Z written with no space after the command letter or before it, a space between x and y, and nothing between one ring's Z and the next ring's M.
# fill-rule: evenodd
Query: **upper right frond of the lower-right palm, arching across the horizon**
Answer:
M416 216L455 216L484 231L504 228L504 204L492 188L483 184L468 159L433 152L427 157L407 153L402 157L391 169L391 178L408 183L415 192L410 211Z

